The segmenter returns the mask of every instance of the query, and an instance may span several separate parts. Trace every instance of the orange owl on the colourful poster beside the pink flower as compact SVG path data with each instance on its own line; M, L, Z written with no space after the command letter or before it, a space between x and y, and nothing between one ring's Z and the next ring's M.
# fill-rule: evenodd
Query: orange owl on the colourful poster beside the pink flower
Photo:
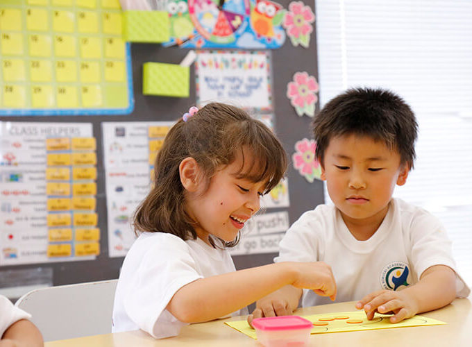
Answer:
M251 26L258 37L271 40L273 27L283 21L285 10L278 3L269 0L257 0L251 9Z

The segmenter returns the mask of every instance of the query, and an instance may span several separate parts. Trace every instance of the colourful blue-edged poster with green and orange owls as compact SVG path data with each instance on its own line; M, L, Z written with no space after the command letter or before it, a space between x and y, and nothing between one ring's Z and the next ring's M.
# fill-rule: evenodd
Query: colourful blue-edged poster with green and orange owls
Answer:
M285 42L286 10L273 1L167 1L165 10L171 39L164 46L277 49Z

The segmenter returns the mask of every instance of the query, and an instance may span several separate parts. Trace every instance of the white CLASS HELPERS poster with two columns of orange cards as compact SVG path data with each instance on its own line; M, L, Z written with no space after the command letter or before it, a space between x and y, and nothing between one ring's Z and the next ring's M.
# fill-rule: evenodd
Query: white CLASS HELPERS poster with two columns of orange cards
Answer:
M99 254L95 150L89 123L0 121L0 265Z

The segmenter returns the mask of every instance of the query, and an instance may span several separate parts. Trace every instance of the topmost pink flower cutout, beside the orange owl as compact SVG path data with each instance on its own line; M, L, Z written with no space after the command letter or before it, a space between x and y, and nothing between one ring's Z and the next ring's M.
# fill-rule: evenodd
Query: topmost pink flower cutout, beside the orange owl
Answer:
M285 14L283 27L294 46L301 44L307 47L310 42L310 33L313 31L314 13L310 6L305 6L302 1L294 1L289 4L289 11Z

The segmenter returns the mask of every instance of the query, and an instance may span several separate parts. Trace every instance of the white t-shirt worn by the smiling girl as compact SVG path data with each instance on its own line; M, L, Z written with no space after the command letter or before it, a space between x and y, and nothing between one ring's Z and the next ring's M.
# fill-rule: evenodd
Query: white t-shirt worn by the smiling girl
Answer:
M235 271L230 254L201 239L183 241L144 232L125 257L115 293L112 332L142 329L155 338L176 336L186 323L166 310L176 291L199 278ZM246 308L233 316L247 314Z

